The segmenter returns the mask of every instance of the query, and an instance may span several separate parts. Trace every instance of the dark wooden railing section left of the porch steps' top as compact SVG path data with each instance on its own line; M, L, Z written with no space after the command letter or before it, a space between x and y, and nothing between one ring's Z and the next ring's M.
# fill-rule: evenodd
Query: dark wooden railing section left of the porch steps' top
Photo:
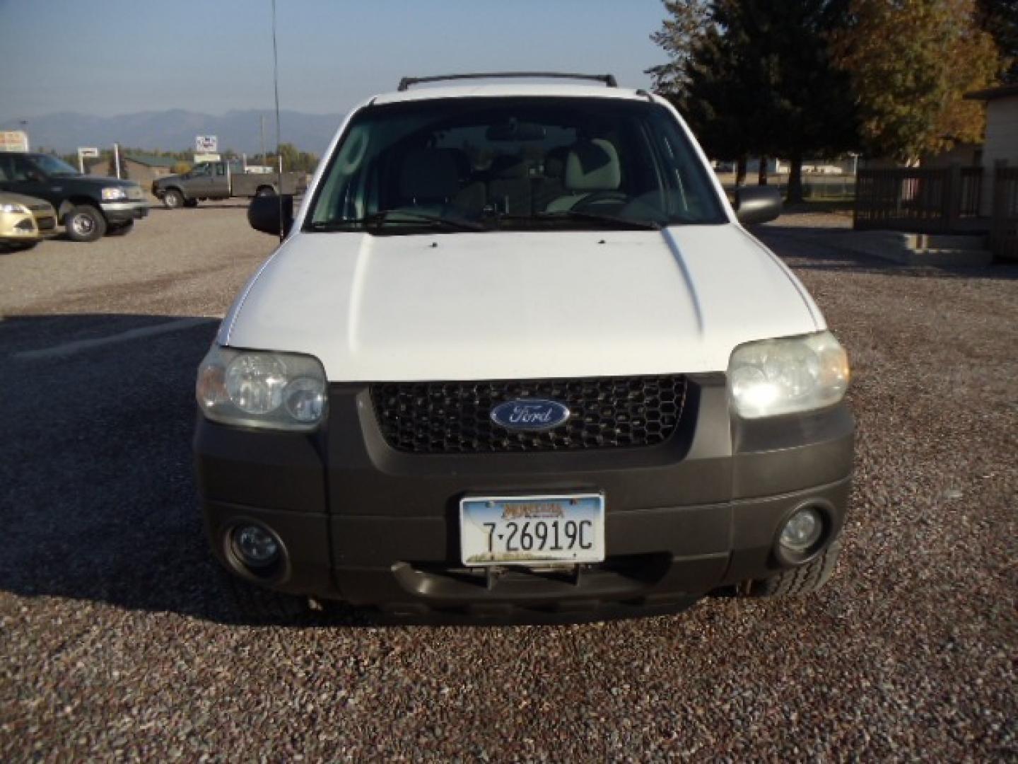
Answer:
M855 227L948 233L979 214L981 167L859 170Z

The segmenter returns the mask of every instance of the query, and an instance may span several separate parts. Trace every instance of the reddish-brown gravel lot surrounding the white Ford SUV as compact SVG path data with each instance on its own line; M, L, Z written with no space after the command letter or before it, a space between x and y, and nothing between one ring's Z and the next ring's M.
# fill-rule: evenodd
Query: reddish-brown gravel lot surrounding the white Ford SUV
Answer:
M575 626L238 624L191 484L192 374L273 240L243 209L0 255L0 759L1018 757L1018 267L760 235L854 364L821 593ZM56 345L74 343L60 352Z

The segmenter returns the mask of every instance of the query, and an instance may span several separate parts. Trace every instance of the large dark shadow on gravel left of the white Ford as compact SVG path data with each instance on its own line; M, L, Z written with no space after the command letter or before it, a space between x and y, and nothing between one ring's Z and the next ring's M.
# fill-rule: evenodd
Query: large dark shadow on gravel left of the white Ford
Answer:
M0 590L246 622L194 492L194 371L216 323L193 319L0 321Z

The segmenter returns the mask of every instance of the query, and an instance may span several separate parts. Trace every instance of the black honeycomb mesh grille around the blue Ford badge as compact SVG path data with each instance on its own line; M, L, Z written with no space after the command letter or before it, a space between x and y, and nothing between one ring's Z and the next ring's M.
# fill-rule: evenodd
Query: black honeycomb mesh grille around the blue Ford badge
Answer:
M657 445L675 432L685 394L685 378L679 375L372 385L386 441L412 453ZM571 416L544 432L507 430L492 422L493 406L516 398L556 400Z

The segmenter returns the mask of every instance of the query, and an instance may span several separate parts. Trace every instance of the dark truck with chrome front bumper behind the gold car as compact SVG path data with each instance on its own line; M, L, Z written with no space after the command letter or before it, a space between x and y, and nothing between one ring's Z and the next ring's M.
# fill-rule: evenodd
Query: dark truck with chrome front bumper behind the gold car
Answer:
M74 241L123 235L135 220L149 214L145 192L137 183L82 175L49 154L0 152L0 190L49 202L67 237Z

